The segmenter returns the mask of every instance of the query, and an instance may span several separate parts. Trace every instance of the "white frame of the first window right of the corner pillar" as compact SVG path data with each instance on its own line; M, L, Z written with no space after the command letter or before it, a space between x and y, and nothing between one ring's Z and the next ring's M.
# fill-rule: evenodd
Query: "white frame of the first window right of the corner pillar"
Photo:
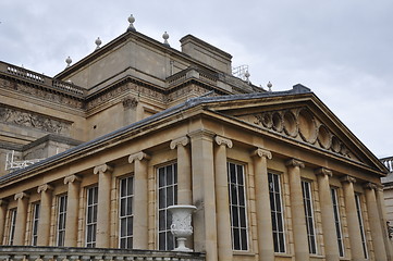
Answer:
M233 165L235 170L234 178L232 178L231 165ZM228 161L226 169L228 169L228 192L230 200L229 207L230 207L230 220L231 220L232 250L248 251L249 232L248 232L247 192L246 192L246 175L245 175L246 167L245 164L243 163ZM238 176L240 170L242 170L241 178ZM242 184L240 184L240 182ZM243 189L243 195L241 195L242 191L240 191L242 189ZM243 197L243 203L241 202L242 201L241 197ZM243 213L241 209L244 210ZM236 213L234 213L234 210L236 211ZM237 219L234 219L234 216L236 216ZM234 224L234 220L237 220L237 225ZM238 231L237 236L235 236L236 229Z

